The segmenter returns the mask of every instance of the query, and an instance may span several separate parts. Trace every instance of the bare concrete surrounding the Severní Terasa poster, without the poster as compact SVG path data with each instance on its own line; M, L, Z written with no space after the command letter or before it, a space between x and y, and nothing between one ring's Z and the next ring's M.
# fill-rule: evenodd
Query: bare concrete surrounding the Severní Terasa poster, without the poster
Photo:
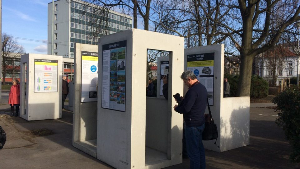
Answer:
M250 97L223 98L224 44L184 49L184 70L187 70L187 55L215 53L212 117L218 127L219 138L203 141L204 147L213 151L227 151L249 145ZM230 82L229 82L230 83ZM186 93L187 89L184 90ZM208 114L208 108L206 112Z

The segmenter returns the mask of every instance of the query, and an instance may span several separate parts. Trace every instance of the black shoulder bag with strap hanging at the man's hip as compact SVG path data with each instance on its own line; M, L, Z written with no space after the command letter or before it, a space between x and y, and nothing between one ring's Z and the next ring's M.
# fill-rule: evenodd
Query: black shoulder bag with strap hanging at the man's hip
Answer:
M207 106L208 106L208 111L209 115L205 115L205 128L204 131L202 132L202 140L214 140L214 144L217 143L217 138L218 138L218 130L217 130L217 125L214 123L214 120L212 119L212 113L210 111L209 103L208 103L208 98L207 98Z

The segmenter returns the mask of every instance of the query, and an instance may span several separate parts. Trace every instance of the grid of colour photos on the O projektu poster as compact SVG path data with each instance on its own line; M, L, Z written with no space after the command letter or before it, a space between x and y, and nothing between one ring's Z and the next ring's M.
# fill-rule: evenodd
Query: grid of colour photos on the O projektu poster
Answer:
M125 59L126 48L110 50L110 101L125 104Z

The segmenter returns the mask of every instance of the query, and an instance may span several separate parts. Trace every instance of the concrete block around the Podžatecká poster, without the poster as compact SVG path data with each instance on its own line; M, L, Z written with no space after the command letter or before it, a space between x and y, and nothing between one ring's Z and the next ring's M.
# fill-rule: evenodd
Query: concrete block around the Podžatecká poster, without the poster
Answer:
M34 92L34 59L58 60L57 92ZM26 67L25 67L26 63ZM24 54L21 56L20 117L25 120L46 120L62 118L63 58L45 54ZM25 96L25 72L26 96ZM26 109L26 111L25 111Z

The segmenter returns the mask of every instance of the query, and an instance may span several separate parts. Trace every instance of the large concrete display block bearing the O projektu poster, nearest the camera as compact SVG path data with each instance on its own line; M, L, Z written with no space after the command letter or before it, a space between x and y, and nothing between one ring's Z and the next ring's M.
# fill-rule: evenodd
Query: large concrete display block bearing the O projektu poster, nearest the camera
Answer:
M115 168L181 163L183 117L173 110L174 99L146 97L146 68L147 49L169 51L169 84L176 84L169 85L169 98L182 95L184 38L133 29L104 36L98 45L97 158Z

